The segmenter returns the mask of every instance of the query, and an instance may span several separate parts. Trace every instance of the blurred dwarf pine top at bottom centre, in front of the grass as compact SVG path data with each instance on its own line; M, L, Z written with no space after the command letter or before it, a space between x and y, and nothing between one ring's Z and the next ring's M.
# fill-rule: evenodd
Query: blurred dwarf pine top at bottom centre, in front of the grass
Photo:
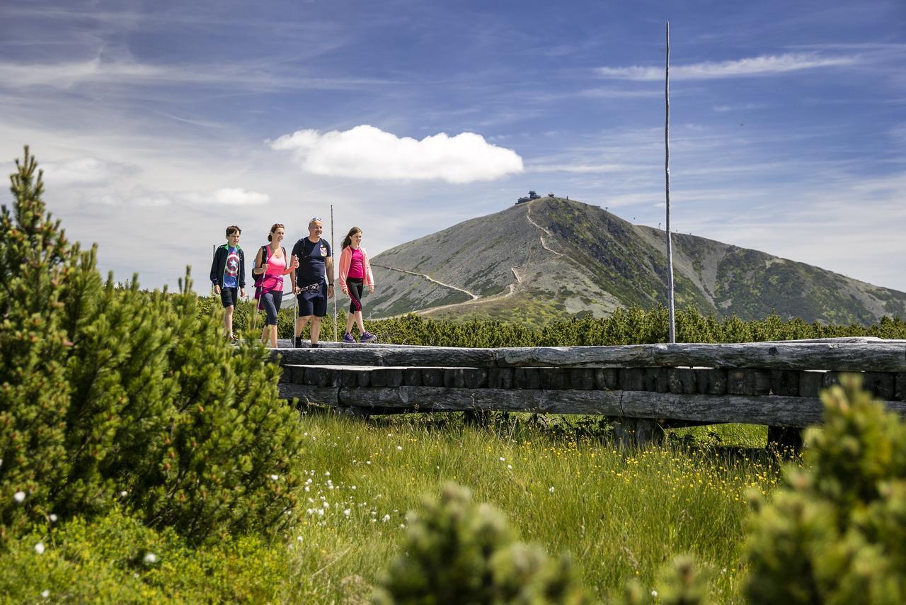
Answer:
M516 542L506 517L448 483L410 512L403 554L384 572L375 603L584 603L565 556Z

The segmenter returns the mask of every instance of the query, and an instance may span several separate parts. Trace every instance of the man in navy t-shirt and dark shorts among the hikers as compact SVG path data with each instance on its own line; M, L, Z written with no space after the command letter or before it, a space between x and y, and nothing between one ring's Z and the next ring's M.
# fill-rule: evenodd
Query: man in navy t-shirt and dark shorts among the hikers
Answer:
M295 320L295 346L302 346L302 330L311 320L312 347L318 346L321 318L327 315L327 299L333 298L333 255L331 245L321 238L324 230L321 219L308 222L308 237L295 242L293 256L298 259L293 293L299 302L299 318Z

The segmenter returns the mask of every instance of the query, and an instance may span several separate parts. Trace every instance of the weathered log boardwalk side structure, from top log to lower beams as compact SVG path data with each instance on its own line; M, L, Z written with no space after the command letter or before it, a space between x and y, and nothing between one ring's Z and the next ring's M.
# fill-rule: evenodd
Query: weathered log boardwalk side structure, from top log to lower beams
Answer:
M280 349L281 395L363 413L505 410L661 425L821 422L843 372L906 414L906 341L840 338L728 345Z

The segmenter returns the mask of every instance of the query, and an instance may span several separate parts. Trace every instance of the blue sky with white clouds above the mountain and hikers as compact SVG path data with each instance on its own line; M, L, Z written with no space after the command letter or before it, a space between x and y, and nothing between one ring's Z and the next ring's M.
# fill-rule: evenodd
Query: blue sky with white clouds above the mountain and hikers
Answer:
M906 291L901 0L3 0L0 162L144 288L207 291L232 224L374 256L536 190L662 228L667 22L671 227Z

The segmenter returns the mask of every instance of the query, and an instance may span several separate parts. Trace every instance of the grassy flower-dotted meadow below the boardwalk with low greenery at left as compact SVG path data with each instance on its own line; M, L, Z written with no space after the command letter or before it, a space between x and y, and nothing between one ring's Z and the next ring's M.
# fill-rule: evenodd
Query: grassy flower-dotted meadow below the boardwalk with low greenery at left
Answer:
M501 415L482 428L456 415L367 423L303 415L298 430L306 448L298 463L309 483L298 494L292 532L272 542L229 540L193 551L171 535L141 529L142 540L108 542L105 548L115 554L100 560L92 540L106 540L110 531L94 530L92 539L82 527L68 541L37 532L0 563L0 587L11 585L3 579L12 575L70 597L367 599L400 547L406 513L423 495L437 496L443 483L454 481L472 490L477 502L506 512L522 540L552 554L572 553L585 585L601 598L633 577L653 587L664 561L680 552L695 553L714 572L717 600L739 597L747 490L770 493L779 478L774 457L747 447L749 427L720 429L730 429L720 443L741 435L737 444L743 447L720 446L706 433L707 445L688 445L698 443L692 434L648 450L621 451L583 437L591 432L576 429L578 423L541 428L527 418ZM41 556L32 550L38 540L47 544ZM159 554L158 564L136 562L150 550ZM73 562L80 557L84 562ZM239 571L252 561L267 564L261 573ZM43 566L53 573L40 572ZM104 586L119 588L98 588Z

